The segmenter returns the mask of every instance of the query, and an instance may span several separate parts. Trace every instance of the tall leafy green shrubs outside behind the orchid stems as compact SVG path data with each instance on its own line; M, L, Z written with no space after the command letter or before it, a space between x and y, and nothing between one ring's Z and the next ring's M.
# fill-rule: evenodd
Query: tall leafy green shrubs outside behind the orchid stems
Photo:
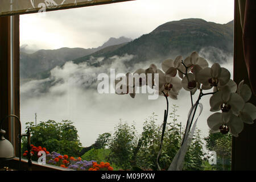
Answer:
M183 133L181 123L177 122L177 106L172 107L170 114L172 122L167 123L163 139L162 154L159 158L159 165L167 170L172 159L180 148ZM162 127L156 124L157 115L154 113L143 123L143 131L137 137L134 125L119 122L115 127L115 133L110 140L110 154L107 158L110 163L122 169L153 169L158 170L156 158L160 147ZM203 142L200 138L200 130L192 139L191 146L185 156L184 170L203 169Z

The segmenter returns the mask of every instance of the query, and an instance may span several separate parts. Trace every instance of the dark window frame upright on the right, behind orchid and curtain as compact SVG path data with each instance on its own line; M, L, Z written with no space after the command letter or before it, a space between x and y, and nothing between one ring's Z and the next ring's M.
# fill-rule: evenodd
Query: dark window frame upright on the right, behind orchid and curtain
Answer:
M239 2L235 0L234 6L234 81L239 83L245 80L250 86L248 72L243 55L242 28L240 20ZM250 101L256 105L256 97L251 96ZM239 137L232 139L232 170L256 170L256 123L244 125Z

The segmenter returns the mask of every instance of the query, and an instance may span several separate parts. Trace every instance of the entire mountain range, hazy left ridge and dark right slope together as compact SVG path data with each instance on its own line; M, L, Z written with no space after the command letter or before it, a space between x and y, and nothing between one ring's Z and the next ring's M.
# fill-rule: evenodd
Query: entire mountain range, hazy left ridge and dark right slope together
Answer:
M196 18L181 19L164 23L135 40L110 38L98 48L40 50L30 55L21 53L20 75L29 79L47 78L52 68L62 66L68 60L99 67L112 63L110 57L134 55L124 63L128 68L148 60L160 63L165 59L175 59L177 55L186 57L192 51L199 52L210 61L225 63L227 57L233 55L233 21L218 24Z

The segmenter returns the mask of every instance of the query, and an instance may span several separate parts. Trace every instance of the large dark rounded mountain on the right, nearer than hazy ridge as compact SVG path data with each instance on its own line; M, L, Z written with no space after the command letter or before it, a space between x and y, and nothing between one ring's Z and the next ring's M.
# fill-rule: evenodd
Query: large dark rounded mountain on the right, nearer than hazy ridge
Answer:
M203 51L202 51L203 50ZM208 56L214 62L223 63L225 55L233 54L233 21L226 24L207 22L203 19L182 19L167 22L149 34L142 35L117 49L94 52L73 60L74 63L88 61L90 57L104 57L100 65L110 63L112 56L134 55L127 67L146 60L174 59L174 56L188 56L192 51Z

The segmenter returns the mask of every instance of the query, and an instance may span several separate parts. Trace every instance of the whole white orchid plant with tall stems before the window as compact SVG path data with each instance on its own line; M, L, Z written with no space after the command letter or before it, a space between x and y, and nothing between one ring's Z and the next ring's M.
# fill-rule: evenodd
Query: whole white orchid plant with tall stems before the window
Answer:
M197 52L192 52L185 60L183 60L182 56L177 56L175 60L164 60L162 63L162 70L156 68L155 64L151 64L146 70L138 69L133 75L146 75L144 80L143 78L139 79L138 86L148 86L148 73L151 73L153 76L152 83L154 86L152 88L154 88L155 92L160 96L166 97L167 101L167 109L164 112L164 121L162 124L162 137L160 139L158 158L162 149L164 130L167 123L168 97L177 100L182 88L190 92L191 96L192 107L188 114L183 142L181 143L180 151L177 152L175 158L172 160L169 170L181 170L183 167L184 155L190 144L196 126L197 119L194 121L196 110L200 107L201 113L203 105L200 104L199 101L204 96L212 95L209 104L210 111L214 112L214 114L210 115L207 119L211 133L220 131L222 134L230 133L234 137L238 137L238 134L243 130L243 123L253 124L254 119L256 119L256 107L248 102L251 97L249 86L244 84L243 81L237 86L236 82L230 79L230 72L228 69L222 68L218 63L214 63L209 67L208 61L205 60L204 57L200 57ZM158 74L158 76L156 76L156 74ZM128 80L131 79L131 77L128 73L126 74L126 78L127 84L121 85L121 88L123 86L127 87L127 92L117 92L118 83L120 81L116 80L116 93L129 93L130 96L134 98L134 91L137 89L136 83L130 84ZM156 81L156 78L159 80ZM199 95L194 103L193 96L196 92L199 92ZM192 123L194 123L193 126ZM156 162L158 163L158 159L156 159Z

